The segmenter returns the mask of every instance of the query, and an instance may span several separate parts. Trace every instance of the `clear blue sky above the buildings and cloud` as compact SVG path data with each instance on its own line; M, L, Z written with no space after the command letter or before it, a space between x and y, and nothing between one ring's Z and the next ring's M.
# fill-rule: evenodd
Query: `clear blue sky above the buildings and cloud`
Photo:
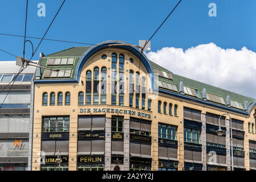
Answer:
M46 5L46 16L38 17L38 3ZM178 0L66 0L48 31L46 38L84 43L123 40L138 44L149 39ZM217 17L210 17L209 3L216 3ZM62 0L29 0L27 36L42 37ZM256 52L255 0L183 0L151 41L152 51L162 47L188 49L198 44L215 43L221 48L247 47ZM24 35L25 0L1 1L0 33ZM30 39L36 47L38 40ZM45 54L79 44L43 41L39 47ZM22 55L23 38L0 35L0 49ZM34 60L39 55L36 52ZM26 57L31 46L26 46ZM0 60L15 57L0 52Z

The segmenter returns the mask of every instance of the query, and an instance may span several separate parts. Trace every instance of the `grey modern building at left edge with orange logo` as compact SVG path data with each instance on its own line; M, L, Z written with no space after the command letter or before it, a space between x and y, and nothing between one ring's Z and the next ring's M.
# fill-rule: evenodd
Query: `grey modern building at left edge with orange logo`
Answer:
M0 171L31 169L35 67L28 66L10 84L20 68L15 61L0 61Z

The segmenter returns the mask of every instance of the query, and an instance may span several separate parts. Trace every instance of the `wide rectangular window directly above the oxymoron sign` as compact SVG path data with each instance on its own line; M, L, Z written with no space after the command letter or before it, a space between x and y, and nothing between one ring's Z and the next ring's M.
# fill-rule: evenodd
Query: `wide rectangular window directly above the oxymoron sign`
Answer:
M70 117L44 117L43 132L70 131Z

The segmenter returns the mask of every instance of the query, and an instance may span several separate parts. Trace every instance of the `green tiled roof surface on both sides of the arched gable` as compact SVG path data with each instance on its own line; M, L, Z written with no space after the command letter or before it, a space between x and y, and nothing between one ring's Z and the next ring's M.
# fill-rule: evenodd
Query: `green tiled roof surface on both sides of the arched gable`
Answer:
M78 64L78 61L80 60L80 57L89 48L91 48L91 47L71 47L71 48L65 49L63 51L51 53L50 55L46 55L46 56L42 57L39 60L39 64L42 65L42 66L46 66L48 57L75 57L74 65L50 66L51 68L55 68L55 69L59 69L60 67L61 68L71 68L71 69L73 69L71 77L68 78L68 79L71 79L71 78L74 78L74 76L75 76L76 65ZM254 98L242 96L241 94L237 94L237 93L230 92L230 91L227 91L227 90L224 90L224 89L221 89L221 88L217 88L216 86L204 84L200 81L196 81L196 80L192 80L190 78L186 78L186 77L183 77L183 76L176 75L176 74L168 71L167 69L161 67L160 65L154 63L153 61L149 61L149 63L151 64L152 68L159 69L161 71L170 73L173 77L173 80L169 80L168 78L163 78L163 77L159 77L159 80L169 82L170 84L174 84L174 85L177 86L177 89L179 89L180 81L182 81L184 83L184 86L188 86L190 88L197 89L200 92L201 96L202 96L202 89L205 88L206 92L208 92L208 93L212 93L212 94L215 94L217 96L222 96L224 98L225 102L226 102L226 97L227 96L230 96L231 100L241 102L242 105L245 104L245 101L248 101L249 104L256 101L256 99L254 99ZM43 72L44 72L44 69L41 69L42 74L43 74Z

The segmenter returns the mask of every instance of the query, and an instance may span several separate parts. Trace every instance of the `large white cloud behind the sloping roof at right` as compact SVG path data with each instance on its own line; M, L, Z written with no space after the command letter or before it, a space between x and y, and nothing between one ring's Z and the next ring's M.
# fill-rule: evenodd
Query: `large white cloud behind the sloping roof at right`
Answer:
M256 98L256 52L246 47L237 51L209 43L185 51L164 47L146 55L177 75Z

